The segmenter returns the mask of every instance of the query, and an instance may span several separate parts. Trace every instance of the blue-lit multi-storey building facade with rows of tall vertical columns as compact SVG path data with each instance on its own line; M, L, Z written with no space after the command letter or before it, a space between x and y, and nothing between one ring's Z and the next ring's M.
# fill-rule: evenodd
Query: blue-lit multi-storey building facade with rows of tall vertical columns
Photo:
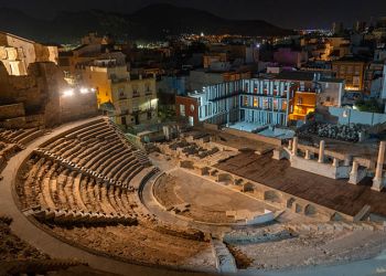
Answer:
M247 121L257 125L282 125L289 120L292 112L296 85L280 79L239 79L203 88L202 93L191 94L196 99L196 118L214 124ZM181 97L183 98L183 97ZM186 100L176 99L176 108L186 109ZM183 112L178 110L178 114ZM195 121L196 123L196 121Z

